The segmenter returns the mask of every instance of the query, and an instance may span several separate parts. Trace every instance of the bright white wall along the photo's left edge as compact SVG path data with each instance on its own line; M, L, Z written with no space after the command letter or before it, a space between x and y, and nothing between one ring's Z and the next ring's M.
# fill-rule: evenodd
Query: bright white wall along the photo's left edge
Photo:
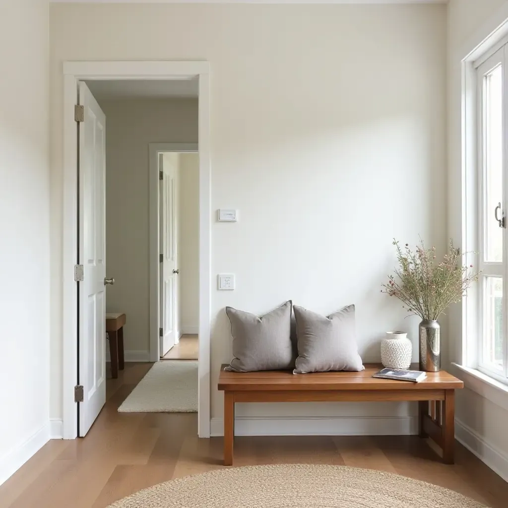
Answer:
M50 435L48 26L0 3L0 484Z

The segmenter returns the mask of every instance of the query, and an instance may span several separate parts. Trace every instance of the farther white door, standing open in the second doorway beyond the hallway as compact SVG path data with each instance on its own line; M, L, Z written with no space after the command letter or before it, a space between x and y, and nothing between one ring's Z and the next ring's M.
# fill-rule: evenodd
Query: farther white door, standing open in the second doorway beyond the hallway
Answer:
M176 231L176 153L158 155L161 199L161 356L176 342L177 320L177 231Z

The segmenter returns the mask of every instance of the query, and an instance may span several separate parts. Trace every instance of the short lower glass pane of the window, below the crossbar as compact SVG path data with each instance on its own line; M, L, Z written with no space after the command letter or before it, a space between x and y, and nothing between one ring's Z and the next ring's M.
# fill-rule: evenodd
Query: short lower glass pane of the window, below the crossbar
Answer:
M483 320L483 363L503 368L503 279L485 277Z

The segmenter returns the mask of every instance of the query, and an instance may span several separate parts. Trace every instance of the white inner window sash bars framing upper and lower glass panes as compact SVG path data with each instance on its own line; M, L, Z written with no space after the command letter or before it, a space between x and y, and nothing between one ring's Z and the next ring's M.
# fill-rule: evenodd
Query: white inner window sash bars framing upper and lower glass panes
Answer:
M504 42L504 41L503 41ZM506 41L508 43L508 41ZM484 150L485 142L486 142L486 113L484 105L486 103L486 88L485 82L487 76L489 76L496 68L499 66L502 67L502 80L503 80L503 105L502 105L502 124L503 124L503 134L504 140L506 140L506 118L508 115L506 114L506 107L508 106L508 101L506 101L506 93L508 92L507 86L507 77L508 77L508 45L504 44L501 47L491 48L483 57L474 62L475 73L477 74L476 85L477 85L477 152L478 152L478 214L477 214L477 226L478 226L478 250L480 252L479 256L479 268L482 270L482 274L480 275L479 283L478 283L478 332L477 332L477 359L478 359L478 370L481 372L498 379L500 382L508 385L508 312L507 312L507 266L508 266L508 250L507 250L507 242L506 242L506 228L502 229L502 237L503 237L503 259L501 262L492 262L487 261L485 259L486 250L487 250L487 236L485 231L485 224L488 221L494 221L494 210L489 209L486 203L486 152ZM506 141L503 146L503 192L501 198L501 211L498 216L506 216L506 196L508 193L506 192L506 185L508 181L508 165L506 164L506 155L508 151L506 150ZM508 219L507 219L508 220ZM503 333L503 358L502 358L502 368L496 368L495 364L488 361L484 358L485 351L485 342L484 338L486 338L485 327L487 326L487 321L485 319L485 298L486 298L486 284L487 279L489 277L497 277L501 278L503 281L503 313L502 313L502 333Z

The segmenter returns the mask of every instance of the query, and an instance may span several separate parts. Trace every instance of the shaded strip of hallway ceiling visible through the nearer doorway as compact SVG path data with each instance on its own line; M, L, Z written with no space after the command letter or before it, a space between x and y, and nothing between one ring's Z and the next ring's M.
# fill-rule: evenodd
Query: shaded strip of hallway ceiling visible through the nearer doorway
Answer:
M93 97L98 101L117 99L171 99L198 97L198 79L161 80L86 80Z

